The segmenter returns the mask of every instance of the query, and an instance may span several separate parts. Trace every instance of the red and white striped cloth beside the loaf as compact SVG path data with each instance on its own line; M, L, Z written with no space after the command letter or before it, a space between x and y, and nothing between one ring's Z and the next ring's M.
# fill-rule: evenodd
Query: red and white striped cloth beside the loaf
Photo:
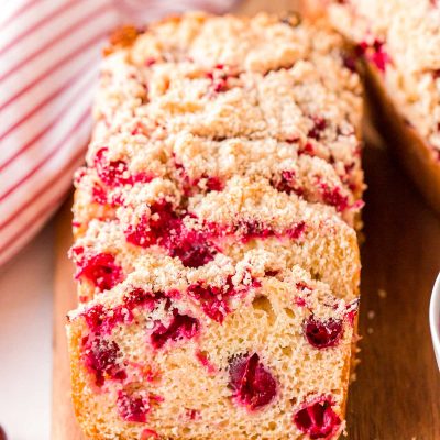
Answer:
M2 0L0 265L62 204L82 162L100 52L123 23L234 0Z

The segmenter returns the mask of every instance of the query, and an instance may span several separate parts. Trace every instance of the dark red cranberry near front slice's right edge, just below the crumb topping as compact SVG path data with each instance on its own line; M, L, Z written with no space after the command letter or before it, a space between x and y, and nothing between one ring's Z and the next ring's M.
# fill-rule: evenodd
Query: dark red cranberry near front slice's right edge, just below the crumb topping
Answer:
M333 318L319 321L310 316L304 324L304 332L311 345L317 349L334 346L342 337L342 321Z

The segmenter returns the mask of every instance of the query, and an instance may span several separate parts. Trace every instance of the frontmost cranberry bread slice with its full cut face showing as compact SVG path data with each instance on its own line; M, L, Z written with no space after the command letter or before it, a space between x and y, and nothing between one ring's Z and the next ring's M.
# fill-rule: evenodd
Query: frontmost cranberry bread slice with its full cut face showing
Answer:
M337 439L356 308L263 250L144 255L69 315L78 420L92 439Z

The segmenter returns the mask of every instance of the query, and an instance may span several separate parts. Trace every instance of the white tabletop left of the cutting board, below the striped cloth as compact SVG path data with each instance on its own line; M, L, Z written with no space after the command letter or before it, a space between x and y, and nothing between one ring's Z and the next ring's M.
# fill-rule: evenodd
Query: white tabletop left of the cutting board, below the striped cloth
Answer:
M48 440L53 223L0 267L0 426L8 440Z

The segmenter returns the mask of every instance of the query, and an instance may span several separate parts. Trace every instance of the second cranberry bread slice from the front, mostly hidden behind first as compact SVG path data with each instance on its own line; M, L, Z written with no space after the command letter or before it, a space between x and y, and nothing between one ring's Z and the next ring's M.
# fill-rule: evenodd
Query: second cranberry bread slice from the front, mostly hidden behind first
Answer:
M122 280L145 254L165 254L187 267L252 249L299 264L348 300L358 295L356 233L332 207L275 189L267 179L232 177L221 191L185 198L169 180L132 187L113 220L91 220L72 250L80 299Z

